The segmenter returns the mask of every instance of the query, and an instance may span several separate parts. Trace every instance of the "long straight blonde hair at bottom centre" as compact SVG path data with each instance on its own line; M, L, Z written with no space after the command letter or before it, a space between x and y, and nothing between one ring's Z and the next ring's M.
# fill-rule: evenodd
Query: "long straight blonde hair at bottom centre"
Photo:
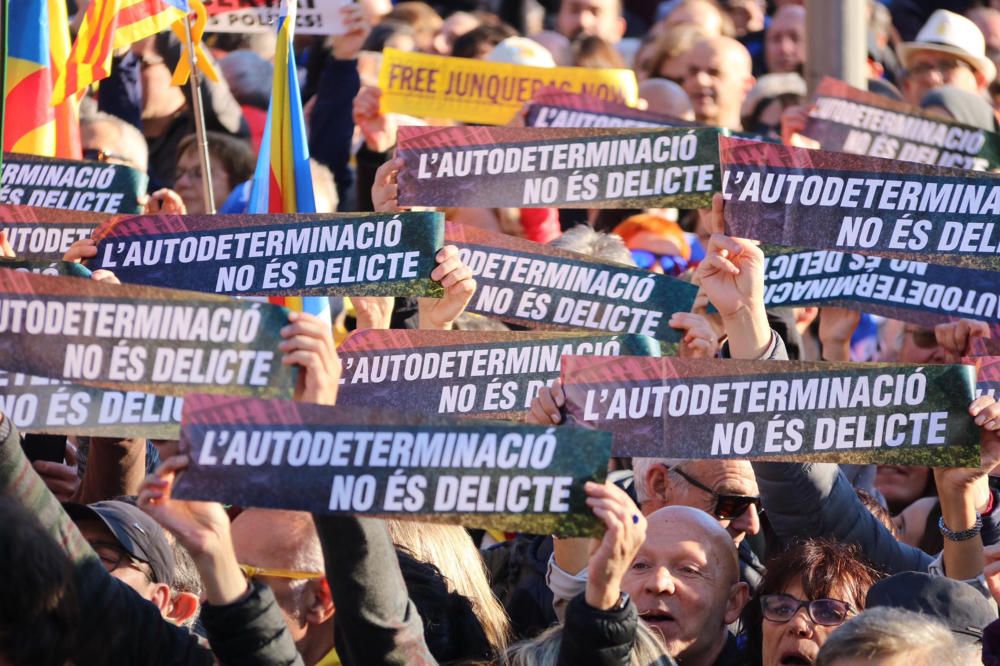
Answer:
M497 654L503 654L510 642L510 618L490 589L486 564L469 533L458 525L403 520L386 523L396 546L436 566L455 592L468 597L486 638Z

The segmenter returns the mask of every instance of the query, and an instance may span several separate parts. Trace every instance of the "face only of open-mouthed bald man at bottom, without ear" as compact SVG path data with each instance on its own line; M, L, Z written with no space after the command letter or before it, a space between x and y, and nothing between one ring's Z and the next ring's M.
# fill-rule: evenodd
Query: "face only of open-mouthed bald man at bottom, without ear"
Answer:
M720 546L719 540L695 521L656 520L653 514L646 541L622 579L622 589L673 657L700 654L721 640L736 580L735 565L724 559L732 554L723 550L733 545Z

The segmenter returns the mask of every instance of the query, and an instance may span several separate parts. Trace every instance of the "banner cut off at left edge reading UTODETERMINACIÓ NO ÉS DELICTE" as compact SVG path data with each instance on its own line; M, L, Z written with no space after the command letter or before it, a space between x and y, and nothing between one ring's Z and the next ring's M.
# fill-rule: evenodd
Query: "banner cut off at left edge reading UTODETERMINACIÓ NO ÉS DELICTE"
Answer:
M0 268L0 369L120 391L290 397L288 310Z

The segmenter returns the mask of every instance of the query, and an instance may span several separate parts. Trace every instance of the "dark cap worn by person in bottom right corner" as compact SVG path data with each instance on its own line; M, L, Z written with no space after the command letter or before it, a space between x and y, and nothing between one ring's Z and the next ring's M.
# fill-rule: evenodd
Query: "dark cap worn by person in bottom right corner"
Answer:
M888 606L929 615L970 644L981 641L983 629L997 619L986 597L968 583L916 571L898 573L875 583L868 590L866 606Z

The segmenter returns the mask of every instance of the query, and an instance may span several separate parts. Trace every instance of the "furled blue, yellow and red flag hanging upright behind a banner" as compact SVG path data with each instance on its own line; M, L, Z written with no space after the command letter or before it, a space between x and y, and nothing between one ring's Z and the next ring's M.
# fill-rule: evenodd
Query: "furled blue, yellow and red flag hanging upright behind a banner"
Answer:
M271 103L250 187L251 213L316 212L302 94L292 51L294 28L295 3L283 2L274 52ZM330 301L326 297L276 296L269 300L328 321L330 318Z

